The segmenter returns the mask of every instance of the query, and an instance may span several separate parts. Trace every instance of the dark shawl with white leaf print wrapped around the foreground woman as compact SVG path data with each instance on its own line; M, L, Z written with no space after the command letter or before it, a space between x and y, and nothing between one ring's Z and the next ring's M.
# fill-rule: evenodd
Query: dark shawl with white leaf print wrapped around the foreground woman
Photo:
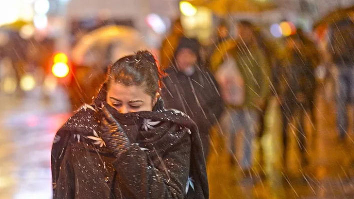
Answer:
M120 114L102 100L102 93L55 136L53 198L207 199L205 161L191 119L177 110L165 110L161 100L152 112ZM109 117L103 106L132 143L118 158L101 137L110 128L100 122Z

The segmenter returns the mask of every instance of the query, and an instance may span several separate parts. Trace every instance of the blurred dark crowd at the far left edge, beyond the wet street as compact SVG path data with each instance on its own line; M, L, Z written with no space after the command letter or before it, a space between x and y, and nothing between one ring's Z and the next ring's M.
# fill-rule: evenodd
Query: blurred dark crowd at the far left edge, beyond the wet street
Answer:
M45 77L51 73L54 40L24 39L10 29L1 29L0 35L0 92L23 96L34 89L34 82L44 85Z

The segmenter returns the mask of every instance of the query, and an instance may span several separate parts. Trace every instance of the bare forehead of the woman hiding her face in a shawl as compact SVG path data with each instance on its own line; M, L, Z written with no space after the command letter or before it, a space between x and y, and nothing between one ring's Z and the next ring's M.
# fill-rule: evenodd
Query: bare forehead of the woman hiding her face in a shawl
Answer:
M129 101L129 100L144 100L150 96L144 91L145 88L140 86L125 86L120 83L112 83L108 90L108 97L114 97L118 100Z

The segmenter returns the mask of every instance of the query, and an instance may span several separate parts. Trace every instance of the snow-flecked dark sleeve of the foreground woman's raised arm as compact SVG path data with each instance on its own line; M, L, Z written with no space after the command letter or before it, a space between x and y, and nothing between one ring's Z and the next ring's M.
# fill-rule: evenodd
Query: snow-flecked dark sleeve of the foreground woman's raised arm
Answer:
M113 162L121 192L134 199L183 199L189 174L190 143L189 135L185 134L167 152L152 151L151 155L132 144Z

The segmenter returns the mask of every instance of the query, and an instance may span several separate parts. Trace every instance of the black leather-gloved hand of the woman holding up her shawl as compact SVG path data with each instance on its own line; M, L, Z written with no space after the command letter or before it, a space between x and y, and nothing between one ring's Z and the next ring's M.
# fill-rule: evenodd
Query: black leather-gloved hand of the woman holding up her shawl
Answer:
M130 145L129 139L120 124L113 118L109 111L103 107L102 111L102 129L101 135L108 149L110 149L116 157L123 154Z

